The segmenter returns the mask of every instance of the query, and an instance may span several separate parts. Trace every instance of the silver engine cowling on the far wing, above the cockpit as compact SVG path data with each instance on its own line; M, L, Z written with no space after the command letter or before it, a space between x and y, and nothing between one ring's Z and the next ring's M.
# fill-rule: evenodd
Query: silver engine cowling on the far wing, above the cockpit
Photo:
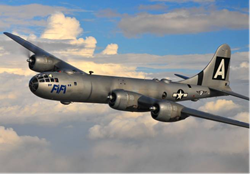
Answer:
M45 56L32 55L28 60L29 68L36 72L53 71L55 63Z

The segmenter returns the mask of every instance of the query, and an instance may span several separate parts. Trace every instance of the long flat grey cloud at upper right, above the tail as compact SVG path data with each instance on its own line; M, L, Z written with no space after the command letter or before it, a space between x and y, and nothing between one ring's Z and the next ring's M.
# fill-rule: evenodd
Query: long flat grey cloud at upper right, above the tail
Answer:
M247 14L236 11L190 8L176 9L164 14L127 15L121 19L119 27L127 36L145 33L187 34L221 29L247 29L247 21Z

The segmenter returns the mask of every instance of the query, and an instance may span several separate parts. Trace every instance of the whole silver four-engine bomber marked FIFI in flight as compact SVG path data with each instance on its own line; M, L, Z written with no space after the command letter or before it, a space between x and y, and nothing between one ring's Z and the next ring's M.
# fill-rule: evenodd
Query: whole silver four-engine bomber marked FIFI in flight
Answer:
M131 112L151 112L162 122L176 122L189 116L250 128L250 124L185 107L177 102L232 95L249 101L229 87L231 50L221 45L210 63L197 75L183 80L135 79L93 75L60 60L34 44L11 33L5 35L33 52L28 57L29 68L40 74L31 78L30 90L37 96L71 102L104 103L113 109Z

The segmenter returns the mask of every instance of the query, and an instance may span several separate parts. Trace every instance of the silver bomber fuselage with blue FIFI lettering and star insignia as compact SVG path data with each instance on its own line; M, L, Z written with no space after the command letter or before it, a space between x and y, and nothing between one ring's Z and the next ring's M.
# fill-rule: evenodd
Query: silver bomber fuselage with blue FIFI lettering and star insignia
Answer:
M51 79L54 79L53 82ZM58 79L58 82L55 82L55 79ZM214 96L208 87L175 83L164 79L46 72L34 76L30 81L30 88L32 81L37 81L38 84L37 89L31 89L35 95L62 102L108 103L107 96L117 89L170 101L197 100Z

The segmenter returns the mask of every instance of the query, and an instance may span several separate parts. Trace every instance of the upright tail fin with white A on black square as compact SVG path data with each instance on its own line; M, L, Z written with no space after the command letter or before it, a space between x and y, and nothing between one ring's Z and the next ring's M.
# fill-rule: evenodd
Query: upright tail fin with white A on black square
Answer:
M230 89L228 86L230 58L231 49L227 44L223 44L217 49L212 60L200 73L180 83Z

